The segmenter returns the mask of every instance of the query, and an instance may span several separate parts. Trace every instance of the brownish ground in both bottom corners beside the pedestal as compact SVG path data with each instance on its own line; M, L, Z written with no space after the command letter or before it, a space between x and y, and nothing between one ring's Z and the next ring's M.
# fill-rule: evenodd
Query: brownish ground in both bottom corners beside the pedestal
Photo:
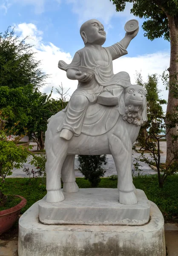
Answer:
M2 238L0 239L0 256L18 256L18 233L11 239L6 239L6 236ZM165 224L165 239L167 256L178 256L178 224Z

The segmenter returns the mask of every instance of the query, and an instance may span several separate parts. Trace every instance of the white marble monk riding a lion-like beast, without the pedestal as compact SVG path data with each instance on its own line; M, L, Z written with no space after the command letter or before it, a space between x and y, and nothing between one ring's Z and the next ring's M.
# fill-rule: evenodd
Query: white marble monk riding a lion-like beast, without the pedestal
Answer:
M126 30L126 28L125 28ZM127 30L126 30L127 31ZM118 173L119 203L137 204L132 183L132 144L146 122L146 91L131 84L126 72L113 73L112 60L127 54L138 26L111 47L102 47L106 32L100 21L80 28L85 47L71 64L59 61L69 79L78 80L66 109L49 119L46 131L46 202L64 200L63 192L78 192L75 154L112 154ZM63 180L61 191L60 176Z

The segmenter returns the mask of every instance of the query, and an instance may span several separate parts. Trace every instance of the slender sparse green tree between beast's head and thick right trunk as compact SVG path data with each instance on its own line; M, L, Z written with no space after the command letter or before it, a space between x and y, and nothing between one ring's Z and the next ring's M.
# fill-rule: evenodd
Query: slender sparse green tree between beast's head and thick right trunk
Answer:
M160 91L158 90L158 77L156 74L148 76L146 83L143 82L141 74L138 74L137 83L144 86L146 90L148 116L148 121L141 127L138 142L141 144L141 148L151 152L149 157L146 157L144 152L142 152L141 157L138 157L137 160L149 165L156 165L159 186L162 188L167 176L174 174L178 167L176 163L178 160L178 150L174 152L173 160L175 161L170 162L166 166L161 164L160 140L165 136L163 132L166 128L164 122L165 114L162 105L167 102L159 97ZM161 136L160 134L163 135Z

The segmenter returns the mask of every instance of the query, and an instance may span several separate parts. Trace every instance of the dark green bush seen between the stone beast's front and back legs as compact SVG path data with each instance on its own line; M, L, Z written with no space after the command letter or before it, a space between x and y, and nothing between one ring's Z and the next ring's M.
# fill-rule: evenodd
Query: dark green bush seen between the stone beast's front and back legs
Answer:
M105 170L101 167L106 165L106 155L79 155L79 170L86 180L89 180L92 187L98 186L100 177L103 177Z

